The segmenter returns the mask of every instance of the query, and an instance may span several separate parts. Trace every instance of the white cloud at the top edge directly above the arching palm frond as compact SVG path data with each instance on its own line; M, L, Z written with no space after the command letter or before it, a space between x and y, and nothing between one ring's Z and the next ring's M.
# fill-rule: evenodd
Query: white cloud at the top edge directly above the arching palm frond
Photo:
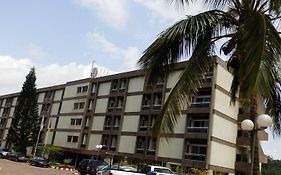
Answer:
M134 0L137 4L140 4L150 10L150 16L152 20L162 21L178 21L183 19L187 14L194 15L202 12L203 5L200 2L191 3L188 8L181 9L171 4L171 1L167 0Z

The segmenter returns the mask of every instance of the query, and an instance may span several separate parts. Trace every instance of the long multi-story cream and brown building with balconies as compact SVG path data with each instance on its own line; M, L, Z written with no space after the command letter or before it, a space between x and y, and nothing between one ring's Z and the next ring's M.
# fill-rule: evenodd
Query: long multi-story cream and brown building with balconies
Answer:
M143 72L137 70L38 89L39 114L45 118L41 144L62 147L75 162L99 154L248 174L250 139L240 123L249 115L238 102L230 104L232 75L219 58L192 105L182 110L168 142L152 137L155 118L183 68L184 63L178 63L150 88L144 87ZM1 146L6 146L18 95L0 96ZM264 131L258 135L267 139ZM96 145L103 147L98 150ZM260 162L266 162L259 151Z

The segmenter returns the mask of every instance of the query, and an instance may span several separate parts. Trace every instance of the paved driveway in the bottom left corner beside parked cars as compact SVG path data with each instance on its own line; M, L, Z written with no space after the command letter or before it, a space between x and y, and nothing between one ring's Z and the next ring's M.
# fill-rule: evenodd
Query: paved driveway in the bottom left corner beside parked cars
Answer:
M0 159L0 175L73 175L73 172L30 166L28 163Z

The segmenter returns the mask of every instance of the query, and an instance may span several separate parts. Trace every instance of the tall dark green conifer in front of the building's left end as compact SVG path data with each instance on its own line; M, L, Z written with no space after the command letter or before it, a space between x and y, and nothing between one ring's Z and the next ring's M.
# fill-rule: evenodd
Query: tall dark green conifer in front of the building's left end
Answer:
M35 69L31 68L18 96L15 115L7 135L7 142L19 151L34 146L39 131L39 116L36 95Z

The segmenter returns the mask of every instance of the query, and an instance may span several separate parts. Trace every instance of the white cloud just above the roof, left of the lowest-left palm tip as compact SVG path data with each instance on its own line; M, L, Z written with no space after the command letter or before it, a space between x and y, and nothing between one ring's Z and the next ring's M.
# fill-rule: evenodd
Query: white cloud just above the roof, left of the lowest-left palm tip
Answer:
M137 47L129 46L121 48L114 43L108 41L102 34L97 32L87 33L87 38L91 42L93 48L100 49L106 54L110 54L113 59L120 59L125 65L126 70L137 68L137 60L141 56L141 52Z

